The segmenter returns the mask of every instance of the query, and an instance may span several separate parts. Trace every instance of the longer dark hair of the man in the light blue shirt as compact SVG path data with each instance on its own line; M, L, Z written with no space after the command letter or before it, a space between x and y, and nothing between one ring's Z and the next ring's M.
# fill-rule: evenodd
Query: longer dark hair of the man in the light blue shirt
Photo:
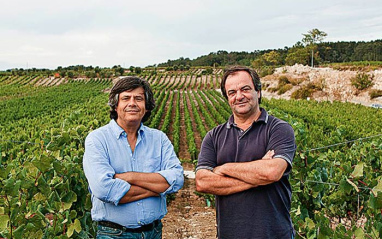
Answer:
M155 107L155 100L154 100L154 94L151 90L150 84L139 77L136 76L126 76L120 78L114 86L111 88L110 94L109 94L109 106L110 106L110 118L117 120L118 114L115 110L118 105L118 97L119 94L124 91L130 91L134 90L136 88L142 87L145 91L145 107L146 107L146 114L142 118L142 122L145 122L148 120L148 118L151 115L151 111Z

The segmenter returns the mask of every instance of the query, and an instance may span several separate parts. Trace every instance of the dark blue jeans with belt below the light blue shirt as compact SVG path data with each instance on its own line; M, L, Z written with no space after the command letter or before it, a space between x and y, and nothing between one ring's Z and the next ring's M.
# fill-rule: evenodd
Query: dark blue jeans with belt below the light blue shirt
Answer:
M98 225L97 239L161 239L162 228L162 222L153 230L145 232L124 232L120 229Z

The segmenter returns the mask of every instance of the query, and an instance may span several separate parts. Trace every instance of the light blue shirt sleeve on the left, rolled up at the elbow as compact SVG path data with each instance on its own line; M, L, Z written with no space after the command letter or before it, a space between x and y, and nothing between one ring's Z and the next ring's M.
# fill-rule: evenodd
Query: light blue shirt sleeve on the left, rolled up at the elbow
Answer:
M103 202L118 205L130 190L129 183L114 178L115 170L110 165L107 146L94 133L90 133L85 140L83 167L90 192Z

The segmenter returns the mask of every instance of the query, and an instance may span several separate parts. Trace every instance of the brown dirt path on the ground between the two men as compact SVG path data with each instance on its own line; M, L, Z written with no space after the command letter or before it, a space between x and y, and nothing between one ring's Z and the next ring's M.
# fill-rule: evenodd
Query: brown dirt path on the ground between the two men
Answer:
M184 165L185 170L190 165ZM195 179L185 177L184 186L168 205L163 218L163 239L216 238L215 209L206 207L204 198L195 194Z

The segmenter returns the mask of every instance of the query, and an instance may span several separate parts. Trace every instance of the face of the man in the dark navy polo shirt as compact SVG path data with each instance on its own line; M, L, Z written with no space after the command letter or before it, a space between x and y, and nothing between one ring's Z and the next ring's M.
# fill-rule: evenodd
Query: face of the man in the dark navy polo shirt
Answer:
M251 76L238 71L227 77L225 89L232 113L236 116L252 116L259 110L259 92L255 90Z

